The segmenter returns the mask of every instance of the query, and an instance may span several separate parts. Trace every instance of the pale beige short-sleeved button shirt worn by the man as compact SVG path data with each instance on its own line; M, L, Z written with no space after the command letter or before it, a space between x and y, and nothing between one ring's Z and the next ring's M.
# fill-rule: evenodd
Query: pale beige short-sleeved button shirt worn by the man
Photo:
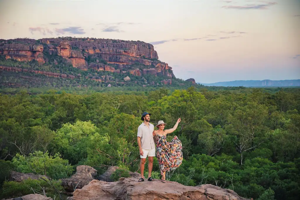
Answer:
M149 129L144 122L137 128L137 136L141 138L141 147L145 150L155 149L153 140L154 125L149 123Z

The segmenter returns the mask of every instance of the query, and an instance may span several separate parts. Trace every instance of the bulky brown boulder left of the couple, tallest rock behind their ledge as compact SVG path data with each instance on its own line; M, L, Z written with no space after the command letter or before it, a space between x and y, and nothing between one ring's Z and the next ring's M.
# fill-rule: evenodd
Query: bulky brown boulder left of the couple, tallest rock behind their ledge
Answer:
M82 188L97 176L97 170L86 165L79 165L76 167L76 173L71 178L61 179L61 185L68 192L73 192L74 188Z

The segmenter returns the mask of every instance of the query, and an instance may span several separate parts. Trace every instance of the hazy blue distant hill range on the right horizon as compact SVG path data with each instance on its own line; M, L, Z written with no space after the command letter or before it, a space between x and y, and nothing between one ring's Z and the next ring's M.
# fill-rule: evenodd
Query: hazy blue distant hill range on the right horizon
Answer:
M199 82L197 82L199 83ZM286 87L286 86L300 86L300 79L295 80L248 80L248 81L226 81L216 83L199 83L205 86L231 86L231 87Z

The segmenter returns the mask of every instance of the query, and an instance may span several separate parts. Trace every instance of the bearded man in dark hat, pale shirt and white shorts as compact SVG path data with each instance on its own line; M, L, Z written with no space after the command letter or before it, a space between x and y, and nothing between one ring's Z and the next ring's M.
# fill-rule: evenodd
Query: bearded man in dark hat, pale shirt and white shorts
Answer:
M144 112L142 114L141 120L143 123L137 129L137 144L140 150L140 169L141 178L139 182L144 181L144 168L146 163L146 158L148 156L148 181L154 181L151 178L151 172L153 167L153 157L155 157L155 143L153 140L154 125L149 123L151 113Z

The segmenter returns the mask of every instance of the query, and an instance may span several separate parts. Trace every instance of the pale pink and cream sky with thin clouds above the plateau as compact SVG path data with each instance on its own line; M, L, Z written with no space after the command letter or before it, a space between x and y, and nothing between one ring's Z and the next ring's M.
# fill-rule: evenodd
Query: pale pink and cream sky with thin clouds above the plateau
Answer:
M153 44L177 78L300 79L300 0L0 0L0 38Z

